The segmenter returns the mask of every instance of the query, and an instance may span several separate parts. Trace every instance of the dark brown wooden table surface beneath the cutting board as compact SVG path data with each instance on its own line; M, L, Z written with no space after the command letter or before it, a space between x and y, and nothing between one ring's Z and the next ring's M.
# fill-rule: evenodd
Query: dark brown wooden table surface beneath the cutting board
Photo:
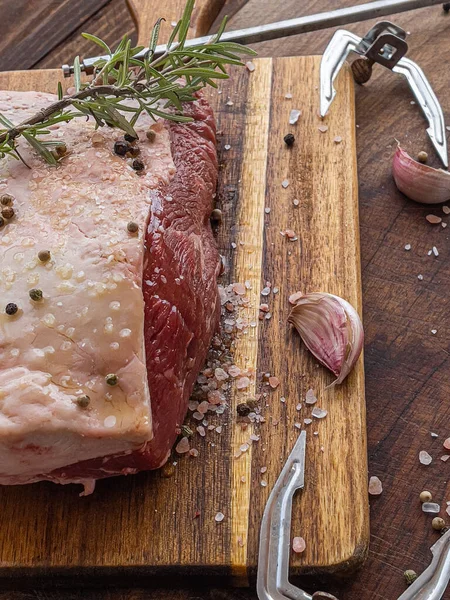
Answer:
M231 0L228 13L233 15L230 27L240 28L349 4L342 0ZM409 56L428 75L450 125L450 14L436 6L390 19L411 32ZM75 54L90 55L93 49L79 37L82 31L110 44L134 31L125 0L0 0L0 20L4 31L1 70L58 67ZM357 23L349 29L363 35L372 24ZM259 44L256 49L260 56L318 54L332 33L295 36ZM392 182L395 139L413 154L427 150L438 166L425 121L411 100L405 81L381 67L375 69L368 85L356 91L369 474L381 479L384 491L371 500L367 563L351 580L322 586L346 600L397 598L405 589L403 572L421 572L428 564L437 534L420 508L418 495L423 489L432 491L450 523L444 511L450 501L450 461L440 460L442 443L450 436L450 228L430 225L425 217L450 218L440 206L407 200ZM406 244L411 244L410 251L404 249ZM439 250L438 257L428 255L433 246ZM438 437L433 438L432 432ZM431 465L419 463L420 450L433 456ZM136 590L132 581L124 580L121 589L77 590L74 581L68 590L0 592L0 600L256 598L250 590L195 584L190 589L149 585ZM450 590L444 598L450 599Z

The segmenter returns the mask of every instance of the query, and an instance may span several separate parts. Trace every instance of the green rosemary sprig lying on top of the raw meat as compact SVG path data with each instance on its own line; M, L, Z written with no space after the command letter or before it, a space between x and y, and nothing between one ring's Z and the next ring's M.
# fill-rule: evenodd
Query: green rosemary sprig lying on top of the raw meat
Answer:
M92 79L83 82L80 60L76 57L75 92L64 96L61 84L58 84L58 100L22 123L14 125L0 114L0 157L13 156L23 160L18 149L18 140L23 138L46 162L56 166L60 157L55 148L62 142L45 136L51 133L51 125L77 117L93 118L96 128L117 127L133 137L137 137L134 126L143 112L155 120L164 117L172 121L190 121L183 115L183 102L194 101L195 93L207 85L217 87L215 80L228 77L227 65L243 64L241 55L255 54L235 42L221 41L226 19L208 43L185 49L194 2L187 0L167 51L158 58L153 58L153 54L163 19L157 20L143 58L136 58L143 47L132 47L127 36L112 51L98 37L83 33L83 37L100 46L108 58L98 60ZM124 103L128 99L134 102L131 105Z

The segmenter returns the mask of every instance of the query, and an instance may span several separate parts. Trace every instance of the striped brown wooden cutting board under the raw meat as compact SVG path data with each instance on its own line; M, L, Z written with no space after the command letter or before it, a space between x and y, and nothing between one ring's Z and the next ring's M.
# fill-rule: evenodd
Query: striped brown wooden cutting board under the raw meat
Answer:
M167 37L183 4L133 0L139 43L146 44L160 15ZM192 33L207 31L221 4L198 2ZM232 390L229 410L210 419L222 433L196 435L198 458L180 458L170 478L154 472L107 479L87 498L74 486L51 483L0 489L0 576L62 577L71 584L124 574L137 583L140 576L175 573L253 581L264 505L299 433L296 423L307 428L308 443L292 533L304 537L306 550L292 557L293 573L346 574L363 562L369 540L363 361L343 385L325 390L332 376L287 325L288 297L297 290L338 294L361 311L353 82L344 68L322 121L319 62L255 59L253 72L232 69L221 93L207 92L221 132L218 243L228 264L222 283L251 284L250 307L240 316L256 327L233 350L235 364L255 370L249 390ZM54 92L57 80L70 83L58 70L1 73L0 88ZM290 126L293 108L302 115ZM296 137L292 149L283 142L288 131ZM286 229L298 240L280 235ZM265 281L279 293L260 296ZM271 319L258 319L260 302L269 304ZM266 372L280 379L276 390L263 384ZM309 388L328 416L305 426L311 408L296 405ZM236 406L261 391L267 392L266 422L243 431ZM260 441L234 458L252 432ZM221 523L218 512L225 515Z

